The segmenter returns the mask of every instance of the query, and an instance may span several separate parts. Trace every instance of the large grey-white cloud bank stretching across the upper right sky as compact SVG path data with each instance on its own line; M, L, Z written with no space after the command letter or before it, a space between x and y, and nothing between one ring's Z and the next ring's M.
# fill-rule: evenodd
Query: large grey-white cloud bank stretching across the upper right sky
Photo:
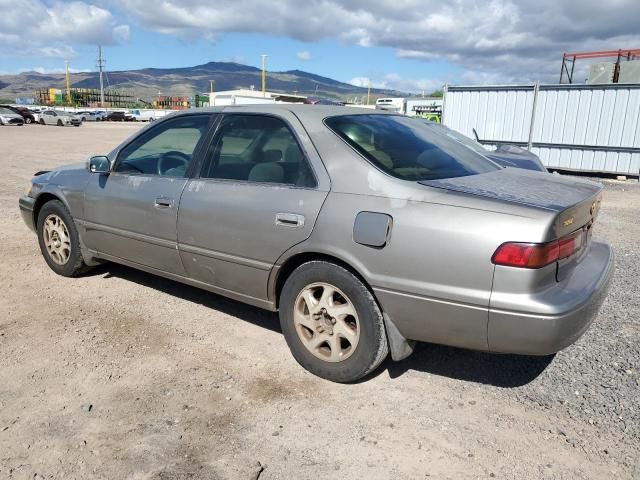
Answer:
M301 41L336 38L447 60L478 81L557 81L566 51L640 44L637 0L120 0L143 26L185 38L256 32ZM268 18L269 21L265 21ZM304 19L301 21L300 19Z

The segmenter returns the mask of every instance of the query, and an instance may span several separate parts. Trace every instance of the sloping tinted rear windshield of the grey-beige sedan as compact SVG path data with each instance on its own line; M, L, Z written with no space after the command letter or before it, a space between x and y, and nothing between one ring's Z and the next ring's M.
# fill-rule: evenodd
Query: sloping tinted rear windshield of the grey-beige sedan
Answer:
M401 115L344 115L326 125L379 169L403 180L439 180L500 167L445 130Z

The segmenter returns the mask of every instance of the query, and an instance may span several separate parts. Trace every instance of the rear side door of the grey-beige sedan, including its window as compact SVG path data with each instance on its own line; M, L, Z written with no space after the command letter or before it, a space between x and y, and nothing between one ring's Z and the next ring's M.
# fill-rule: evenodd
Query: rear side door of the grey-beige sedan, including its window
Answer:
M245 301L267 300L274 263L309 237L328 190L322 162L292 113L226 114L180 201L178 248L187 274Z

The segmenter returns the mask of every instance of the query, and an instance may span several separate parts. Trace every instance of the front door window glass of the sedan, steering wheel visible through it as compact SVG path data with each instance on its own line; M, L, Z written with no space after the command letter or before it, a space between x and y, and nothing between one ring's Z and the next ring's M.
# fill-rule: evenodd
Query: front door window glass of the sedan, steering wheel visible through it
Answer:
M209 119L209 115L189 115L162 122L120 151L114 171L183 177Z

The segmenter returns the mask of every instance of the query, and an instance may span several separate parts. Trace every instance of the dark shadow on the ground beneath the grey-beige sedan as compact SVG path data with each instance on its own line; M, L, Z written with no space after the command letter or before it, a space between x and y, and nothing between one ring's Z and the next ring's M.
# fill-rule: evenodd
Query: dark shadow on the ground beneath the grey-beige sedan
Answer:
M282 333L276 313L141 270L115 263L105 263L91 270L87 275L121 278L237 317L273 332ZM537 378L551 363L553 357L553 355L546 357L500 355L444 345L418 343L411 356L400 362L394 362L388 358L381 367L362 381L376 377L385 370L391 378L397 378L413 370L457 380L514 388L526 385Z

